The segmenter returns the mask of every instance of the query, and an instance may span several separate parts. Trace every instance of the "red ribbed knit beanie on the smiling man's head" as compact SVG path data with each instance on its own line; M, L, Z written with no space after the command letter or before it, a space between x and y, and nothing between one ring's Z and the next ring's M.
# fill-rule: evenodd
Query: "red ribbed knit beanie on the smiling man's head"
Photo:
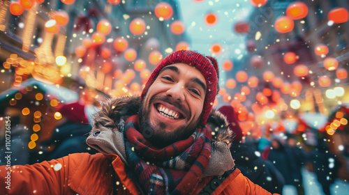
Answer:
M200 120L200 125L205 125L207 122L207 118L209 118L209 114L211 113L214 100L216 98L217 75L214 65L211 63L209 59L207 59L207 57L203 56L202 54L189 50L179 50L168 55L151 73L147 81L147 84L145 84L143 88L141 98L142 100L144 99L144 96L147 94L149 87L151 86L151 84L153 84L156 77L158 77L160 71L165 66L172 65L174 63L186 63L188 65L191 65L195 67L197 70L199 70L201 74L205 77L207 91L205 95L204 107L202 109L202 118Z

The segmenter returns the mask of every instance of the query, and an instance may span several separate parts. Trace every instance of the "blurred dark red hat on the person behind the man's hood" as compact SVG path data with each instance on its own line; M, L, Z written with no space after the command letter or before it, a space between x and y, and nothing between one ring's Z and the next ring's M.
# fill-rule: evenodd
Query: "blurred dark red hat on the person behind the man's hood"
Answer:
M237 119L237 114L235 114L234 108L231 106L223 106L218 109L221 114L223 114L229 123L229 128L234 132L234 139L232 139L233 143L239 143L242 141L242 128L239 125L239 120Z

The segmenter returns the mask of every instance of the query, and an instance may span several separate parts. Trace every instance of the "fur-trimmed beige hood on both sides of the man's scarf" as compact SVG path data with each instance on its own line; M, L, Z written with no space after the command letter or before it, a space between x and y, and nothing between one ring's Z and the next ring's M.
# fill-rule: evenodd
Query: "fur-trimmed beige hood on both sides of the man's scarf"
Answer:
M140 96L121 96L101 102L101 110L94 115L87 144L104 155L116 154L127 164L124 121L138 114L140 101ZM222 175L235 166L229 150L232 131L225 116L216 110L211 111L207 124L212 130L212 152L204 176Z

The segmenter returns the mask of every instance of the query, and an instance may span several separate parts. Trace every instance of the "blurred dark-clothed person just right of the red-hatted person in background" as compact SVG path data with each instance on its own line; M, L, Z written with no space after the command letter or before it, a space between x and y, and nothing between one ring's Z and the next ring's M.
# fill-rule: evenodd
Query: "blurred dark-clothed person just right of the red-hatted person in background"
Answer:
M285 185L295 186L297 189L297 194L302 192L302 174L297 167L297 160L292 151L285 143L285 139L281 135L272 136L271 146L263 151L262 157L268 159L274 164L276 169L278 169L285 179ZM300 189L298 189L298 187Z

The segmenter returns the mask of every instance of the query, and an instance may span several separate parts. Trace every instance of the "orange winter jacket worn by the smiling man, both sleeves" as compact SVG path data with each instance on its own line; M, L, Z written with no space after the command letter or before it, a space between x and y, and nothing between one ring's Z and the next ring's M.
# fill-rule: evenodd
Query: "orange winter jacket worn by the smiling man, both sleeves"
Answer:
M75 153L33 165L0 166L0 194L112 194L113 182L115 194L140 194L117 155ZM212 194L270 193L236 169Z

